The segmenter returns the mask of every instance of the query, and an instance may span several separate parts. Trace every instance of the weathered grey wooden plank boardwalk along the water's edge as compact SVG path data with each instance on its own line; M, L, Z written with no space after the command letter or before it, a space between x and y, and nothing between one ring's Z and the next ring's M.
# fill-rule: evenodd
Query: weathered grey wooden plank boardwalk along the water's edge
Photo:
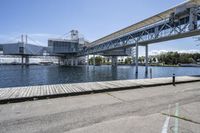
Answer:
M176 83L200 81L198 76L176 77ZM117 80L106 82L89 82L75 84L41 85L12 87L0 89L0 103L50 98L89 93L134 89L149 86L172 84L172 78L155 78L139 80Z

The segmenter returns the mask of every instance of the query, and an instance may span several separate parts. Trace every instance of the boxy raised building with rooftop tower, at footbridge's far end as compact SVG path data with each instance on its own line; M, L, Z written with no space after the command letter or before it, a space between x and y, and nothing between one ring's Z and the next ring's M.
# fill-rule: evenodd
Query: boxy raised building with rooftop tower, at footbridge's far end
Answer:
M60 64L77 66L86 62L85 57L78 57L78 53L88 44L84 38L79 37L77 30L70 31L69 39L49 39L48 49L50 55L60 57Z

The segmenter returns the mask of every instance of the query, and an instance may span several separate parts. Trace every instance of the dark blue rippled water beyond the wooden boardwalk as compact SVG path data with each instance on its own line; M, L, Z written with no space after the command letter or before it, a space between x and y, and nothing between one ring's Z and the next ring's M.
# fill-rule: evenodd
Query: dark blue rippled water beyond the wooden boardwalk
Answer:
M200 75L200 68L193 67L149 67L153 77ZM148 78L145 68L139 67L138 78ZM29 66L0 65L0 88L42 84L78 83L91 81L136 79L134 66Z

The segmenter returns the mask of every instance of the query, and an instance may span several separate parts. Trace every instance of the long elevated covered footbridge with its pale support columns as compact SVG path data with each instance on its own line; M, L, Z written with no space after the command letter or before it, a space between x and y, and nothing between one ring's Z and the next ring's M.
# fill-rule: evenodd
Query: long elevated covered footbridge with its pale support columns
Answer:
M157 42L186 38L200 34L200 1L189 0L156 14L141 22L100 38L79 53L105 54L108 51L132 47L138 73L138 47L145 47L146 72L148 71L148 45Z

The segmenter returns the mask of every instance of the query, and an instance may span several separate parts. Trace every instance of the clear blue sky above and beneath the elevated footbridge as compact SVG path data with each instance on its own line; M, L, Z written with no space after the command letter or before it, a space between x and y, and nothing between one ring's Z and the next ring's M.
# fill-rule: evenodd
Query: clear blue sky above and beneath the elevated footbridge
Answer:
M75 29L94 41L184 0L0 0L0 43L27 34L37 44L47 46L48 38L58 38ZM199 52L194 38L152 44L150 54L162 51ZM140 55L144 49L140 48Z

